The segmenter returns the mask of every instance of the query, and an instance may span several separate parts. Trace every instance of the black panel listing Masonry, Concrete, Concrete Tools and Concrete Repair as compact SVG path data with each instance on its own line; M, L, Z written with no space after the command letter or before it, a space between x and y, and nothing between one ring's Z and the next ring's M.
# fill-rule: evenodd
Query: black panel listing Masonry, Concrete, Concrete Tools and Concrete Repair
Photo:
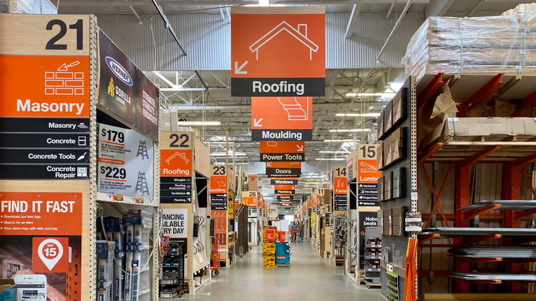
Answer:
M1 179L88 179L89 118L0 118Z

